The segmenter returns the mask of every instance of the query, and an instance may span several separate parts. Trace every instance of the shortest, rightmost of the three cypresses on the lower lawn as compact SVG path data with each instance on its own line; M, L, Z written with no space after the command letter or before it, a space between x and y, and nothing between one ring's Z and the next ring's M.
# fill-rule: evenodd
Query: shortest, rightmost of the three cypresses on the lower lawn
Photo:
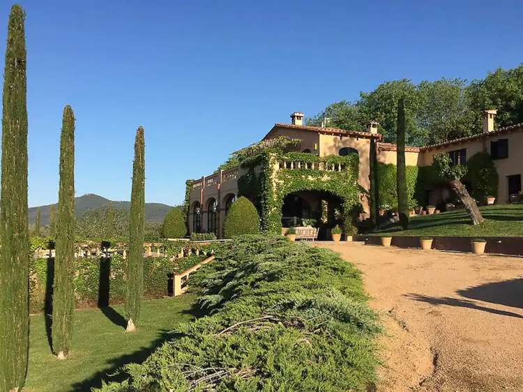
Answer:
M145 142L144 128L139 127L132 164L132 191L127 260L126 331L135 331L144 292L144 225L145 225Z

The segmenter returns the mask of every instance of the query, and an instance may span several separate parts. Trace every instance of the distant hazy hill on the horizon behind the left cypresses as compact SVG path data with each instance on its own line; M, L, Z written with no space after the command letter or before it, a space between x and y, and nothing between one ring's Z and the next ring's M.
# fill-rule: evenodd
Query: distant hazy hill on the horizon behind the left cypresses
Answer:
M85 211L108 205L109 199L93 195L92 193L75 198L75 212L77 216L82 215ZM130 209L130 202L112 202L112 205L115 209ZM54 204L55 210L56 207L56 204ZM36 209L38 209L38 207L31 207L29 209L29 223L34 223L36 220ZM50 209L51 204L40 206L40 225L49 225ZM172 206L167 206L167 204L146 203L145 220L147 222L163 222L165 215L167 215L170 209L172 209Z

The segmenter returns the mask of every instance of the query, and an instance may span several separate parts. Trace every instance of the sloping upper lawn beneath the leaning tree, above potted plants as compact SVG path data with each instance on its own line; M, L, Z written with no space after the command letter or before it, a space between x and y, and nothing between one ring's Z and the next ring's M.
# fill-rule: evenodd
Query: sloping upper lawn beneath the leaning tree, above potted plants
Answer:
M411 218L408 230L399 224L379 234L397 236L523 236L523 204L497 204L480 207L485 218L482 225L473 226L467 211L444 212Z

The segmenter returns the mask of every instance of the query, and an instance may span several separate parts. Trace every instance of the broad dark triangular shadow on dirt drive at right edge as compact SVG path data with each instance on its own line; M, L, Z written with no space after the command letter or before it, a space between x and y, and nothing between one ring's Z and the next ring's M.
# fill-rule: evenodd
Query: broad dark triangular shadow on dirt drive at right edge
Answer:
M458 290L457 294L469 299L523 309L523 278L485 283Z

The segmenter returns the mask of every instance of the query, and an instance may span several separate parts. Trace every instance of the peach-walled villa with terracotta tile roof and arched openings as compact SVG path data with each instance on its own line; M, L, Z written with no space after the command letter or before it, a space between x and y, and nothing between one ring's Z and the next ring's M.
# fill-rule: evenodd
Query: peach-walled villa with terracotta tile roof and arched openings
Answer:
M434 154L443 151L450 153L453 163L466 163L467 157L470 158L480 151L487 151L494 160L499 174L497 202L508 202L509 195L519 193L522 188L523 160L517 151L523 151L523 123L494 129L496 113L497 110L483 112L483 132L477 135L420 148L407 146L405 149L407 166L431 165ZM367 129L361 131L305 126L303 125L303 113L294 112L291 114L291 123L275 123L263 140L280 136L299 139L301 143L298 151L312 153L318 157L347 156L350 153L356 153L359 156L357 181L361 187L368 190L369 150L372 137L377 141L379 162L396 164L396 146L381 142L378 126L378 123L370 122L367 123ZM322 165L315 168L328 170ZM275 170L289 169L296 169L296 167L292 163L290 165L280 163L280 166L275 168ZM188 216L190 232L214 232L220 236L229 206L238 195L238 179L246 172L246 169L242 167L235 167L210 176L203 176L202 179L190 184ZM299 225L302 218L312 216L314 212L321 209L321 203L328 199L327 196L310 190L297 190L286 195L281 211L283 227ZM436 205L448 196L448 189L437 188L427 193L426 201L427 204ZM259 199L255 195L250 199L259 208ZM368 211L366 198L361 197L361 204L365 211Z

